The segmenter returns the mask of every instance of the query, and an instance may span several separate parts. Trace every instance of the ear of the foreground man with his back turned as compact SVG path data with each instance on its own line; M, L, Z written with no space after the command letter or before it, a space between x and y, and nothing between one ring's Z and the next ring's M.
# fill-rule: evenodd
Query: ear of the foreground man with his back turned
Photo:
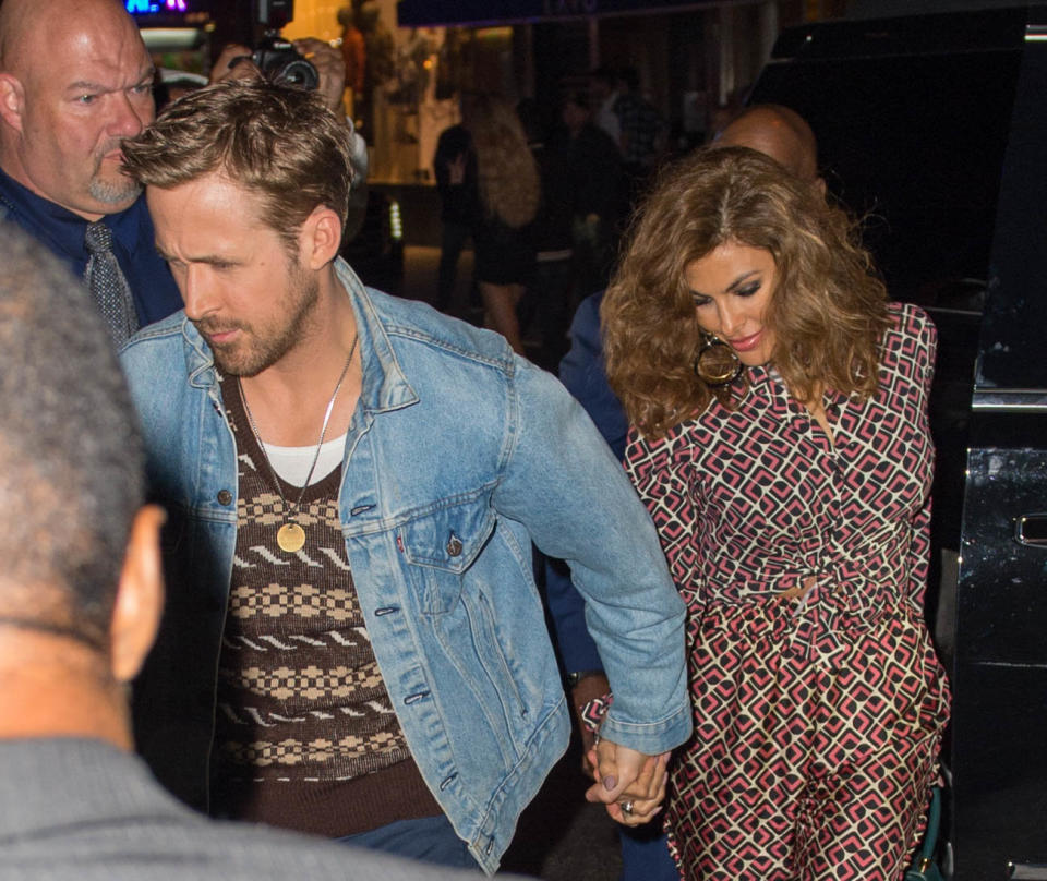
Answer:
M145 662L164 611L164 574L160 565L160 527L166 515L146 505L134 517L120 574L117 601L109 627L109 657L113 678L133 679Z

